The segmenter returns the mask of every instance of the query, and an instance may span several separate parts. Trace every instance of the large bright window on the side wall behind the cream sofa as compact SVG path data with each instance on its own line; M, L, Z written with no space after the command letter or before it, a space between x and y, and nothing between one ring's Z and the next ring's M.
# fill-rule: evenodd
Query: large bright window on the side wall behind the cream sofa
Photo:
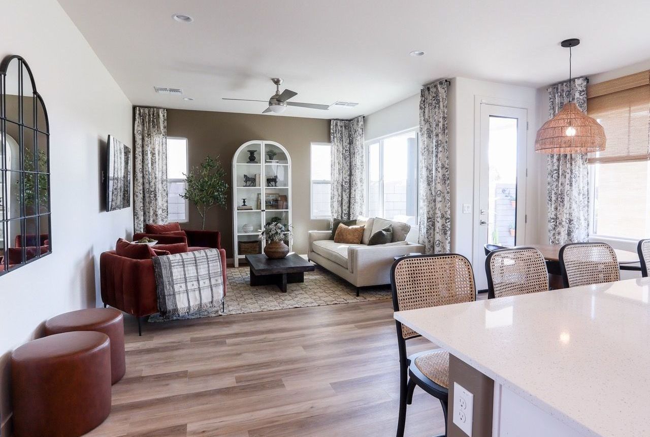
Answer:
M366 149L368 216L417 216L417 131L370 141Z

